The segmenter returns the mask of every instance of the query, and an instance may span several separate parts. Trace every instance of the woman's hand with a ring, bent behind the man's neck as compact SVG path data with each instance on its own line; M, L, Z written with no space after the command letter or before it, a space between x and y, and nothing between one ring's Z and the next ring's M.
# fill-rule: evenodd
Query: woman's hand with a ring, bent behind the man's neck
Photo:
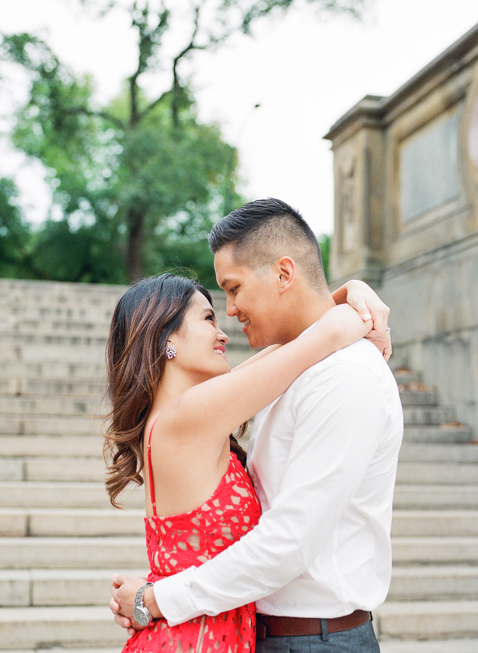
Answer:
M336 304L350 304L361 315L364 321L370 318L373 328L365 337L374 343L383 358L389 360L392 354L390 333L387 331L387 321L390 314L389 307L382 302L380 297L363 281L352 279L332 293Z

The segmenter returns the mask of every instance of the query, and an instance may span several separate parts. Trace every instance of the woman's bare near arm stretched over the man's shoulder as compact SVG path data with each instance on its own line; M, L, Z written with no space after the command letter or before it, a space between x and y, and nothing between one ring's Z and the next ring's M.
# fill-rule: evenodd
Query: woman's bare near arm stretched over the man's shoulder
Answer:
M233 374L196 385L164 408L164 434L219 441L285 392L305 370L363 338L364 322L350 306L327 311L306 334Z

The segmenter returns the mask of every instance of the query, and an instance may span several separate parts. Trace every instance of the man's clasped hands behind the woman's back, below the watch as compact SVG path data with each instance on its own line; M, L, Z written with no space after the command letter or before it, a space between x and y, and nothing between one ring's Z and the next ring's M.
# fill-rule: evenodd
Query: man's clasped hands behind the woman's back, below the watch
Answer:
M138 624L134 619L134 599L140 587L147 582L147 578L138 576L121 576L113 574L112 576L112 595L110 609L115 615L115 622L122 628L128 629L129 635L135 635L136 631L142 630L144 626ZM152 587L148 587L143 594L143 603L151 613L153 619L158 619L160 613Z

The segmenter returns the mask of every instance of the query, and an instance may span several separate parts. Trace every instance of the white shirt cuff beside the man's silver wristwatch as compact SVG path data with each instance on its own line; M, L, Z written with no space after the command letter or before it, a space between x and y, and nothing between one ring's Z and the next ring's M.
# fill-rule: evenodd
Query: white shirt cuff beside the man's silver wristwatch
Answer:
M168 621L168 626L177 626L185 621L204 614L198 610L190 590L190 577L196 567L185 569L172 576L167 576L153 584L153 593L161 614Z

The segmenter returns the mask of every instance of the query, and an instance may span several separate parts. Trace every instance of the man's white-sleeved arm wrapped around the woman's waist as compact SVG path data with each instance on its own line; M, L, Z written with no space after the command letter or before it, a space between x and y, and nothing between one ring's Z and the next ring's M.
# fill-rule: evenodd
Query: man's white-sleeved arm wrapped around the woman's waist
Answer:
M330 540L376 450L383 391L356 363L339 360L318 376L301 377L310 390L295 402L280 493L258 526L213 560L155 583L170 626L269 596L304 573Z

